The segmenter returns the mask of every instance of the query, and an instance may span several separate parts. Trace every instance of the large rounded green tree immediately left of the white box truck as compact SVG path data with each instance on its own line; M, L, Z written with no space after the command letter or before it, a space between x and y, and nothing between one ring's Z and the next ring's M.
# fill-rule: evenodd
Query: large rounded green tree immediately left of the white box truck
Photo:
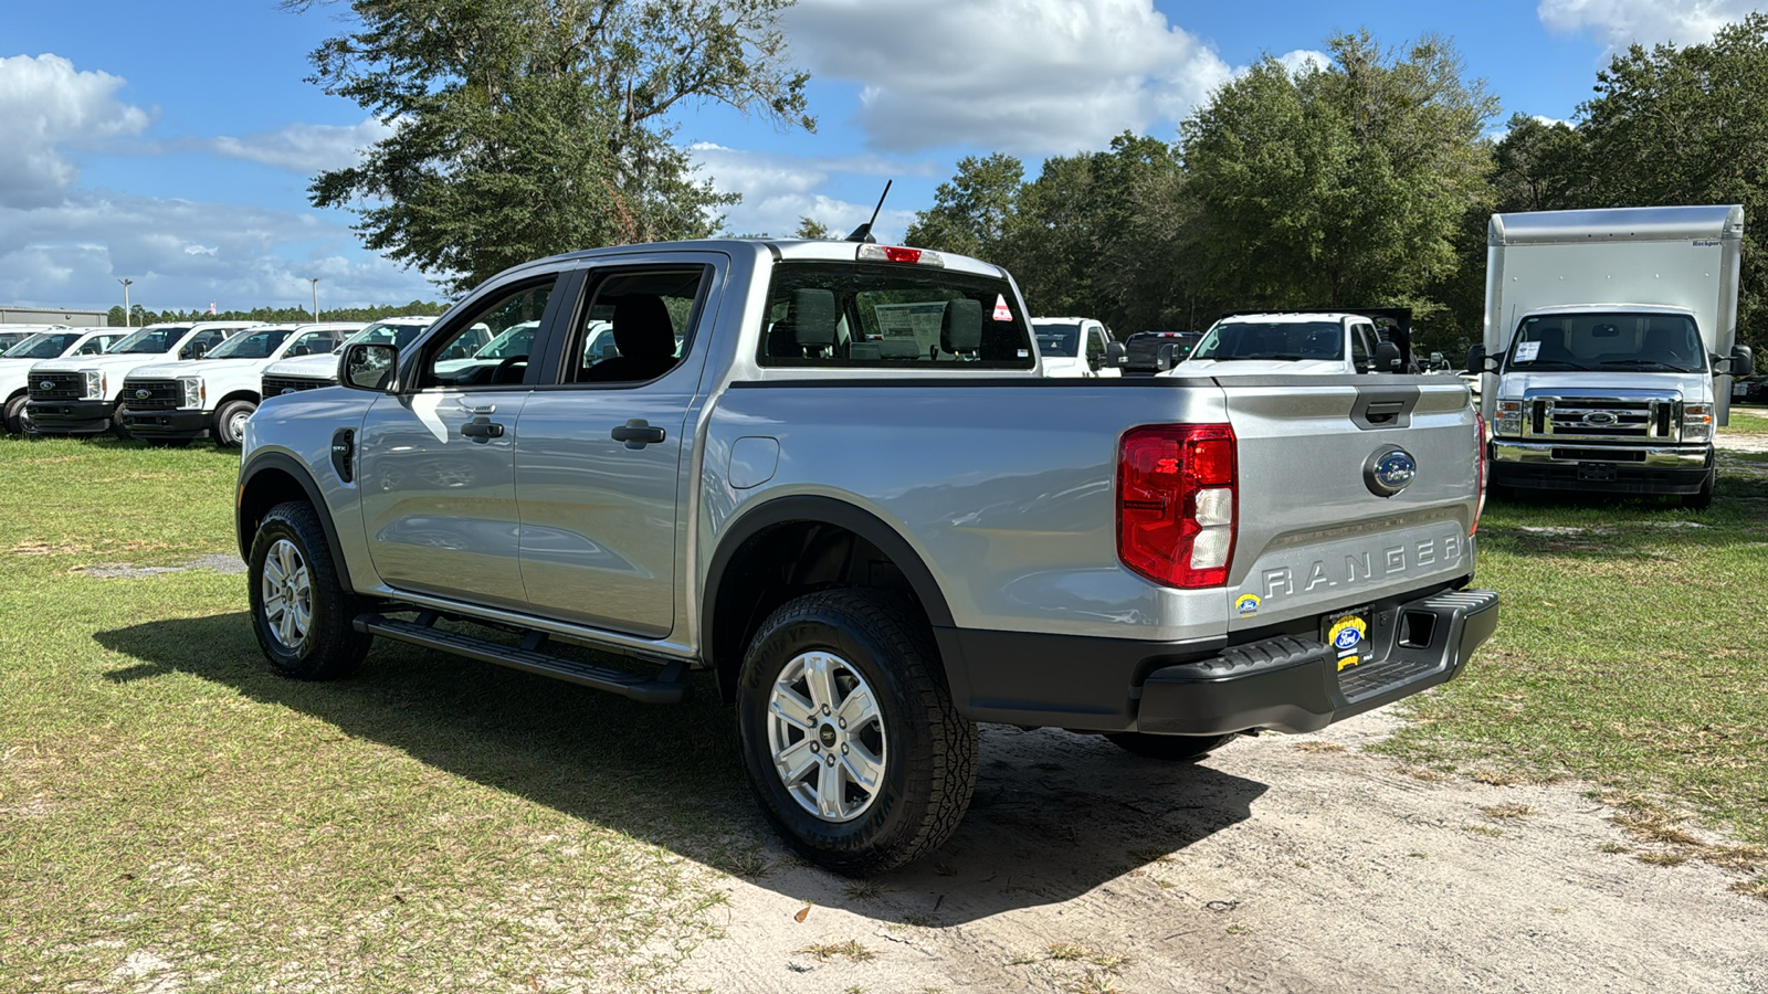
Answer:
M1192 281L1213 304L1409 304L1459 265L1487 195L1482 133L1497 111L1453 44L1404 55L1367 34L1291 74L1266 57L1181 126Z

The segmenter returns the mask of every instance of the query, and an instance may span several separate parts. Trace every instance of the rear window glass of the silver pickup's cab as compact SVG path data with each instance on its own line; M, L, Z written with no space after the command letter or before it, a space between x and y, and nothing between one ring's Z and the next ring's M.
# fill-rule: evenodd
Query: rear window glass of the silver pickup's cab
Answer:
M774 267L762 366L1029 370L1031 333L1006 279L930 265Z

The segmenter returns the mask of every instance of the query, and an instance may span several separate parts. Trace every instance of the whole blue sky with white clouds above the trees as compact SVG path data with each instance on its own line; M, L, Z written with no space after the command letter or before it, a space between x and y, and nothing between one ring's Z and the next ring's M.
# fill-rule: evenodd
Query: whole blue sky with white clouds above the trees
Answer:
M149 308L438 299L361 248L352 216L306 186L380 126L306 83L345 23L272 0L11 4L0 23L0 304L106 308L118 278ZM721 108L674 124L744 203L734 233L799 216L900 235L969 154L1103 149L1124 129L1172 140L1211 87L1262 55L1289 62L1335 30L1384 44L1448 35L1512 111L1572 119L1616 46L1704 41L1736 0L1195 4L1176 0L799 0L792 58L812 73L815 134Z

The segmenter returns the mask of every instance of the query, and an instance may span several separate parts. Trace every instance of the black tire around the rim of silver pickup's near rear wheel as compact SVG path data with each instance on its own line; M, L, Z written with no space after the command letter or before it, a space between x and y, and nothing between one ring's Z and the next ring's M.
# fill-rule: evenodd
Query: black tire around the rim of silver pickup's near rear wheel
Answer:
M808 810L774 762L769 700L787 667L808 653L834 656L845 679L863 679L877 704L872 729L884 743L882 773L870 794L857 785L847 789L843 798L856 792L870 798L849 821ZM819 591L773 612L743 660L737 727L743 768L762 812L794 849L838 874L879 874L932 853L958 828L976 789L976 723L951 704L932 630L907 603L882 591ZM849 741L861 743L859 732L849 739L827 722L815 734L822 743L843 736L843 755ZM803 734L794 745L815 752L810 738ZM833 746L822 759L834 759ZM815 762L810 768L820 787L826 768ZM840 771L847 762L829 768ZM836 776L836 789L845 789L842 773Z

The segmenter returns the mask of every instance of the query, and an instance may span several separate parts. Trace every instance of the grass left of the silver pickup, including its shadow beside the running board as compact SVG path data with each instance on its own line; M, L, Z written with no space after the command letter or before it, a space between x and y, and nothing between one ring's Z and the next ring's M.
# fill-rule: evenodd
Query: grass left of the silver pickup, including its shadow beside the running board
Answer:
M237 456L0 440L0 990L667 985L766 830L727 711L380 646L274 677Z

